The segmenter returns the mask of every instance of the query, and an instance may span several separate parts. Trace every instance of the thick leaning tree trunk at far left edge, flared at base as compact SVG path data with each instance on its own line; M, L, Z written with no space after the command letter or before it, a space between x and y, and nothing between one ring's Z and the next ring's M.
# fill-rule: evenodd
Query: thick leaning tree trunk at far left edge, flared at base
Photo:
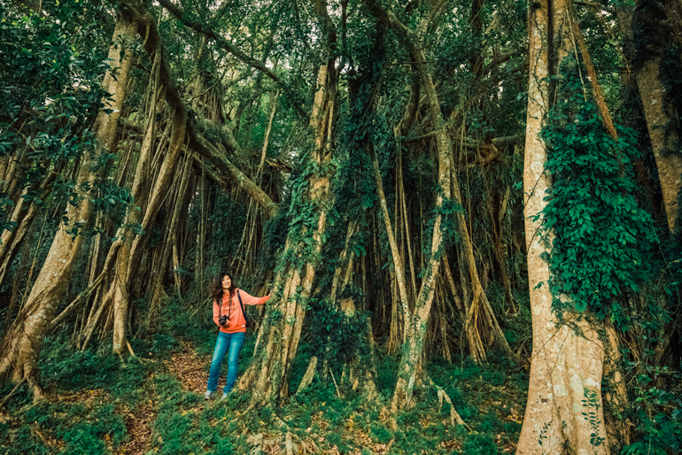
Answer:
M95 150L86 150L76 178L78 202L68 204L68 220L59 224L27 302L2 342L0 380L4 381L8 372L11 373L12 381L27 379L34 386L35 399L39 399L42 393L37 381L37 360L43 347L43 335L50 328L58 305L66 294L68 282L81 254L84 230L93 211L90 193L105 174L100 157L109 153L115 143L117 122L126 97L133 60L133 47L128 43L135 40L137 26L137 20L121 9L113 33L114 44L109 49L112 68L107 71L103 82L105 89L112 95L109 101L105 101L111 113L102 111L97 116L97 146Z

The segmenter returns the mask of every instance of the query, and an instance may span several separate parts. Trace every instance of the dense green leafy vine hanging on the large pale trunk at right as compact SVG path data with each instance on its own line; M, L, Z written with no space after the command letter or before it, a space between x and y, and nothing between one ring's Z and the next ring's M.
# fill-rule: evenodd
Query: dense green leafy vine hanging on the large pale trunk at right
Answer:
M647 264L656 242L653 222L634 197L636 137L619 126L617 139L608 135L596 105L583 96L575 60L566 68L541 133L553 178L543 215L554 311L588 312L626 331L631 315L620 298L652 279Z

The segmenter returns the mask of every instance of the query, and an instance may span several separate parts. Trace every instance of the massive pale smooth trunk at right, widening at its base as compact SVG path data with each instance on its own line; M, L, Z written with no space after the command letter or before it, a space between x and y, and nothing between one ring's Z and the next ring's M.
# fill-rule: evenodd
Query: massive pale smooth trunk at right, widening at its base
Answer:
M550 269L541 258L548 252L541 235L545 197L552 186L545 170L548 144L539 137L546 125L562 60L572 52L570 6L563 0L541 0L529 7L531 75L523 191L528 285L531 292L533 351L531 379L517 455L608 453L601 405L604 348L585 318L554 314ZM554 34L554 35L551 35ZM551 40L551 41L550 41ZM549 243L551 244L552 233ZM567 298L567 297L562 297ZM570 325L569 325L570 324Z

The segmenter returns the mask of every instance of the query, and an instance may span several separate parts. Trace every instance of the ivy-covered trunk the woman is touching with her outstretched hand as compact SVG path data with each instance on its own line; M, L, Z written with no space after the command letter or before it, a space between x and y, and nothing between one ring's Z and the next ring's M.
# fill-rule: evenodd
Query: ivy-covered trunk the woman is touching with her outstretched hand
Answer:
M311 151L302 181L295 182L291 224L283 257L275 270L273 298L256 341L254 359L237 384L252 391L252 400L268 403L289 395L288 374L296 356L308 299L325 242L331 205L332 134L337 70L329 59L320 67L310 126Z

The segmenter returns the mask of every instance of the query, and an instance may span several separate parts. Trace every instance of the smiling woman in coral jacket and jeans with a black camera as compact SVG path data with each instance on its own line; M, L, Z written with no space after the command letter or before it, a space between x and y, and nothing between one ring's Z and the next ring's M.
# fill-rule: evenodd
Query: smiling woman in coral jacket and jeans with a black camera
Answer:
M246 335L244 305L264 305L270 295L252 297L243 290L237 289L232 277L224 273L215 277L211 295L213 297L213 322L221 330L218 332L218 340L215 342L211 371L208 374L208 385L204 397L211 399L215 395L215 390L218 388L218 376L221 374L222 358L229 351L228 383L222 390L222 399L225 399L235 385L237 360L244 343L244 335Z

